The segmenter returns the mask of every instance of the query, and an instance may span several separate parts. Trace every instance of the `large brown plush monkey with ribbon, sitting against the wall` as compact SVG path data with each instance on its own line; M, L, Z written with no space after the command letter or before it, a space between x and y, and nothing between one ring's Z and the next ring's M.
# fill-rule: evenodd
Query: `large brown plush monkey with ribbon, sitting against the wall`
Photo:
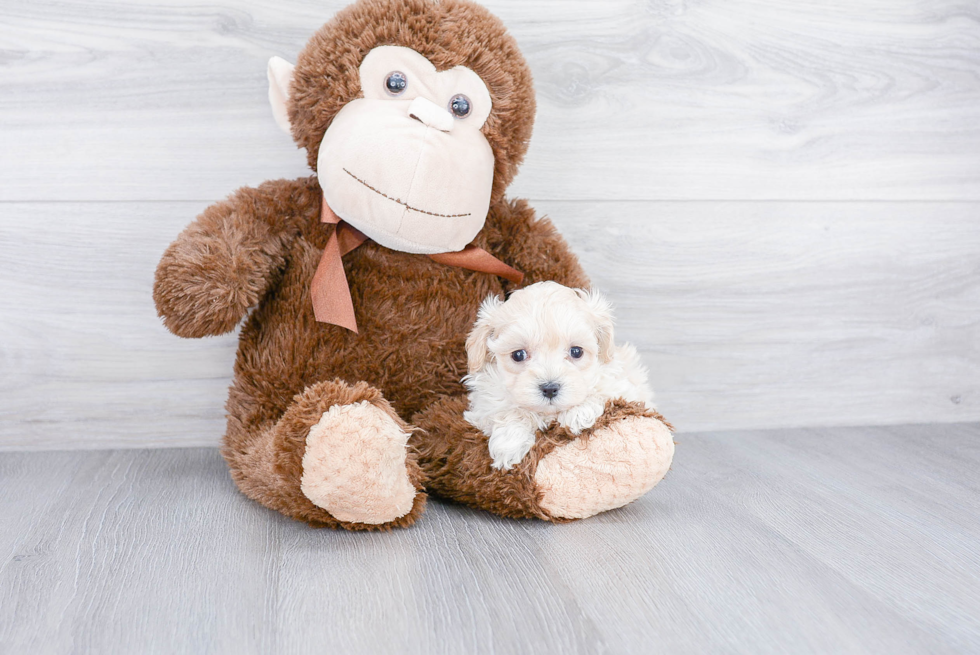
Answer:
M182 337L247 315L222 450L239 488L312 525L372 530L412 524L425 490L564 520L656 484L673 442L642 405L610 403L578 438L553 428L508 471L462 418L480 302L520 273L588 284L551 223L504 197L535 104L501 23L463 0L361 0L269 79L315 174L209 207L154 287Z

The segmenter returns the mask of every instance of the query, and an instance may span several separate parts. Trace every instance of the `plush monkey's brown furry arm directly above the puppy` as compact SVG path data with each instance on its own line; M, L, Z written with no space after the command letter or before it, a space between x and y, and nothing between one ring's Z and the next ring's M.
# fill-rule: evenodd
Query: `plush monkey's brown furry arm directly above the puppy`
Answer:
M552 280L587 288L589 278L578 257L551 221L535 216L526 200L503 200L490 210L489 250L524 273L524 285Z

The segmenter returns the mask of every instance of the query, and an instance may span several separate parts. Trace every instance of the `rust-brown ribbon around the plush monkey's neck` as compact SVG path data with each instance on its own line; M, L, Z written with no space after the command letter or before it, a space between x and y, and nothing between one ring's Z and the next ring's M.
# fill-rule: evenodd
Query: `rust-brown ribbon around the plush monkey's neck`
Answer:
M327 241L327 247L323 249L320 263L313 275L313 284L310 287L313 314L320 323L332 323L357 332L354 303L350 297L347 275L344 273L343 256L367 241L368 237L333 213L326 199L321 203L320 222L336 225L336 228ZM473 244L459 252L442 252L429 257L446 266L498 275L517 285L524 281L523 273Z

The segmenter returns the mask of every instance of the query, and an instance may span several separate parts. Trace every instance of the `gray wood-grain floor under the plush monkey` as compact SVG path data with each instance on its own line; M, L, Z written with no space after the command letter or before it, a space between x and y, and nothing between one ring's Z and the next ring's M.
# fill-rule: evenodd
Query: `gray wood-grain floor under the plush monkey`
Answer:
M622 510L389 534L267 511L214 449L2 453L0 652L980 651L980 424L677 442Z

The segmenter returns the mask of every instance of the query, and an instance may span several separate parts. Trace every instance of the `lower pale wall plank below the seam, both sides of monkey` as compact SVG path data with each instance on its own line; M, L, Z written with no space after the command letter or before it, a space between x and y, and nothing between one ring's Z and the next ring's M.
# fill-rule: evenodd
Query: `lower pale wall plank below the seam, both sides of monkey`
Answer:
M218 443L235 337L178 339L151 298L201 209L0 204L0 449ZM538 209L682 431L980 419L974 203Z

